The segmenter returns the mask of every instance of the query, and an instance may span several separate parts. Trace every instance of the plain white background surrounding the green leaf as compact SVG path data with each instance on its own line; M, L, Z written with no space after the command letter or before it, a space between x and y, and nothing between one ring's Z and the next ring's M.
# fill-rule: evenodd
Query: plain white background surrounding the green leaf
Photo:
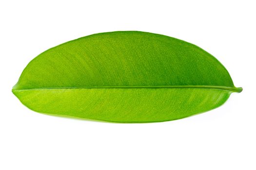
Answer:
M254 0L0 2L0 170L256 170ZM207 113L118 124L47 116L12 94L28 62L82 36L138 30L213 54L242 93Z

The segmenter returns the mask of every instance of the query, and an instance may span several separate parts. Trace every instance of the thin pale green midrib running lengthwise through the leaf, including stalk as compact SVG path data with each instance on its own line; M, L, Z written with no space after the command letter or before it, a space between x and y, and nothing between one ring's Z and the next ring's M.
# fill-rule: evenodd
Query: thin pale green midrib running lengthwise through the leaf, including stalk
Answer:
M42 88L30 88L30 89L15 89L15 91L20 90L44 90L44 89L69 89L69 88L210 88L210 89L221 89L228 90L231 92L240 93L243 89L242 87L227 87L227 86L217 86L217 85L158 85L158 86L88 86L88 87L42 87Z

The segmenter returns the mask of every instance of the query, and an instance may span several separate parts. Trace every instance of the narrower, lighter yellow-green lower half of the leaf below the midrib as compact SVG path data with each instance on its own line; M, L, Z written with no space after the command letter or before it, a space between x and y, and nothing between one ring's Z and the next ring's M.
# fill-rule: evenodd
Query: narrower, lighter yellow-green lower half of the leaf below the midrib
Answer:
M13 89L13 93L40 113L115 122L158 122L214 109L232 92L211 88L53 88Z

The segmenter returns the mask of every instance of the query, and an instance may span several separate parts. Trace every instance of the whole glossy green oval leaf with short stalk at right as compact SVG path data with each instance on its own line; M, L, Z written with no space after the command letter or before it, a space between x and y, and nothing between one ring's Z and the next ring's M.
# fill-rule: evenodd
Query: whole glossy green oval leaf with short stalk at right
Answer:
M125 31L93 34L44 51L12 91L40 113L157 122L214 109L242 88L215 57L193 44Z

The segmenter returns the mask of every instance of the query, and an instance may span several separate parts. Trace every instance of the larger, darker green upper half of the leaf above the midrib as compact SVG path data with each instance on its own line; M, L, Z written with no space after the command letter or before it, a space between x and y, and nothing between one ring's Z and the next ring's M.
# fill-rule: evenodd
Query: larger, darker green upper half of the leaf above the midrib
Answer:
M41 53L14 89L176 85L234 87L222 64L199 47L125 31L85 36Z

